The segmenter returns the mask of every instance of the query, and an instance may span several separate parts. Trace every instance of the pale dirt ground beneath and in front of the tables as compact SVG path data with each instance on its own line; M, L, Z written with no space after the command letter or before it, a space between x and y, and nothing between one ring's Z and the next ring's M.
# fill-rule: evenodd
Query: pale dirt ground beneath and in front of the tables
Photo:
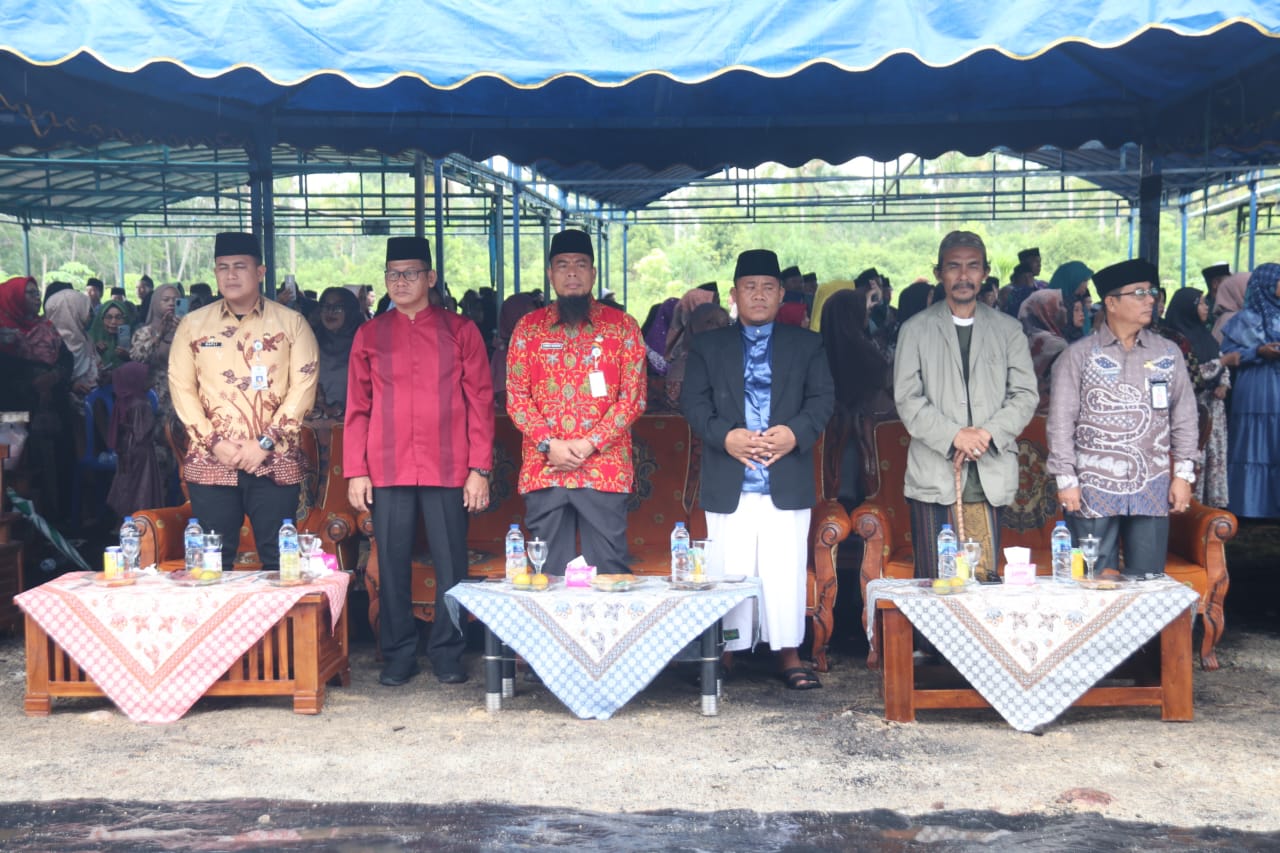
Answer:
M1280 829L1280 635L1230 630L1222 669L1196 671L1196 721L1158 710L1071 710L1041 735L993 711L882 719L878 674L837 653L824 689L785 690L744 661L718 717L691 669L672 667L612 720L580 721L520 683L498 715L471 680L376 681L358 643L349 688L306 717L284 699L205 699L166 726L110 703L60 699L23 716L19 638L0 642L0 802L106 798L490 802L618 813L873 808L923 815L1098 812L1174 826Z

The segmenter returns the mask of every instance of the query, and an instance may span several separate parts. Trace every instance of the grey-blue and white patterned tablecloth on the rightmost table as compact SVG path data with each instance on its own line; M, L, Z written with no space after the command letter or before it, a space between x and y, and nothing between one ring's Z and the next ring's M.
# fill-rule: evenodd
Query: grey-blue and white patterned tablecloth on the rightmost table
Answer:
M1167 578L1115 590L1039 580L951 596L934 594L928 581L881 579L867 584L872 642L881 598L1019 731L1052 722L1199 599Z

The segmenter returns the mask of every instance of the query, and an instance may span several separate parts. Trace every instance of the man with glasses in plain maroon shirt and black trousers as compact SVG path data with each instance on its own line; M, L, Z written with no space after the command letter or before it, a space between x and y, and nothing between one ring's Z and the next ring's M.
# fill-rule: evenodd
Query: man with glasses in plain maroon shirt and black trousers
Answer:
M429 302L435 270L425 240L388 240L385 279L396 309L356 332L343 439L351 505L372 508L378 539L379 680L398 686L417 674L410 557L421 512L435 565L426 654L442 683L461 684L463 637L444 593L466 576L467 512L489 503L493 379L475 323Z

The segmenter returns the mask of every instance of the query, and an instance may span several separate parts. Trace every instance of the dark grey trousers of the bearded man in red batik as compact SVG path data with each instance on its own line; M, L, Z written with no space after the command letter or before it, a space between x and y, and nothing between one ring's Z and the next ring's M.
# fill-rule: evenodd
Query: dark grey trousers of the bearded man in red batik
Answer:
M579 553L602 575L631 571L626 494L558 485L538 489L525 496L525 524L534 538L547 540L548 574L563 575L564 564Z

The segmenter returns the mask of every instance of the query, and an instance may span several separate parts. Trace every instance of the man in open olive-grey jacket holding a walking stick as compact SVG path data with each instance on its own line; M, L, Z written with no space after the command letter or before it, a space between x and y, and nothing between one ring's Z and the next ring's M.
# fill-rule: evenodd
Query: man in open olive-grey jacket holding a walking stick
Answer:
M899 334L893 400L911 435L904 492L918 578L937 576L938 530L957 526L960 467L966 537L982 542L983 574L993 579L1000 507L1018 491L1015 443L1039 402L1021 325L978 301L988 272L978 234L943 237L934 274L946 300Z

